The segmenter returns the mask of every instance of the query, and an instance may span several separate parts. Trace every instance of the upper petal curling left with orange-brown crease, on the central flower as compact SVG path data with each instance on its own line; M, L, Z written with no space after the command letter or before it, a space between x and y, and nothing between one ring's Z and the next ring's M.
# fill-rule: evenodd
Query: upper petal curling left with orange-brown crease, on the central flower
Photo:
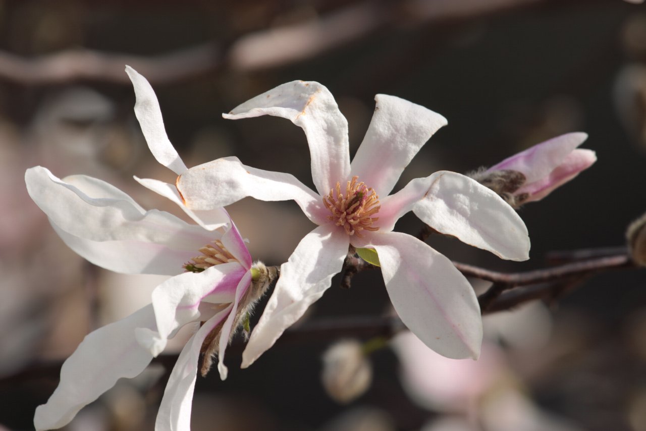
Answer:
M328 194L337 181L349 179L348 121L326 87L318 82L292 81L222 116L238 120L262 115L287 118L305 131L318 194Z

